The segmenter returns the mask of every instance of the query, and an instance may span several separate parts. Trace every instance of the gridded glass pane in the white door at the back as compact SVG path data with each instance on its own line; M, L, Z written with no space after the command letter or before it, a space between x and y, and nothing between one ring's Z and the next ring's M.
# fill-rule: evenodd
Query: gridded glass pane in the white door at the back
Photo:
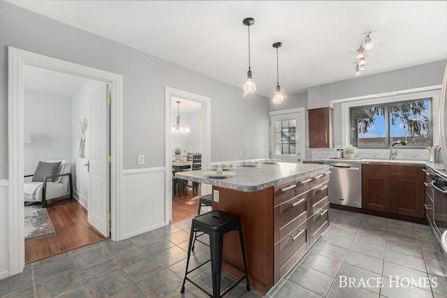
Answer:
M276 155L296 154L296 120L274 122L274 147Z

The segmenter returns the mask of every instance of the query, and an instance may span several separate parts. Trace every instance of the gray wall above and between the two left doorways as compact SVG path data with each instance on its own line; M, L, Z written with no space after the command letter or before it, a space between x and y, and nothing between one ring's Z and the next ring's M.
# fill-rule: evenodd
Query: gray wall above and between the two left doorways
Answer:
M156 40L154 40L156 43ZM0 179L8 178L8 46L124 77L124 169L164 165L165 87L211 98L211 158L268 156L268 99L0 0ZM235 112L233 112L235 111ZM143 128L143 129L142 129Z

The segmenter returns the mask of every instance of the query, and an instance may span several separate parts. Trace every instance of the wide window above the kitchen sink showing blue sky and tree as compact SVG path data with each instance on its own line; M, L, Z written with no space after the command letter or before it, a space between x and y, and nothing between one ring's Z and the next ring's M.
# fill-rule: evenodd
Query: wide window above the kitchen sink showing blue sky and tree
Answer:
M351 144L386 148L401 140L407 147L432 144L432 98L350 108Z

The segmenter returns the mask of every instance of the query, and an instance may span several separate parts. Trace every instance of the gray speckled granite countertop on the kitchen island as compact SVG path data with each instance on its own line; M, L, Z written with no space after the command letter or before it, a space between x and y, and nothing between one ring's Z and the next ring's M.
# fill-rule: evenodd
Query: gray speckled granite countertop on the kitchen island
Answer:
M212 169L177 172L175 173L175 177L203 184L231 188L237 191L261 191L264 188L307 176L321 170L327 170L328 168L328 165L316 165L312 163L261 163L256 165L256 167L237 166L234 170L231 170L231 172L235 172L236 174L229 178L214 179L204 174L205 172L213 172L214 170Z

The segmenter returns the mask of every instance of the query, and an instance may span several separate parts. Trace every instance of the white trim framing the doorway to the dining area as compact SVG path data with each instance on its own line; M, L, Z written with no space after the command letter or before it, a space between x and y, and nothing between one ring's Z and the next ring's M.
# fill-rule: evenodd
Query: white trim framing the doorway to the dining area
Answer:
M166 169L172 169L171 161L171 126L173 124L173 112L171 104L171 98L175 96L178 98L184 98L186 100L196 101L202 103L201 112L201 135L200 144L202 151L202 168L209 168L211 164L211 98L206 96L201 96L198 94L193 94L187 91L165 87L165 167ZM171 171L166 171L166 181L170 181ZM172 184L165 184L166 191L166 224L170 223L172 220ZM202 184L202 194L211 193L211 186L207 184Z

